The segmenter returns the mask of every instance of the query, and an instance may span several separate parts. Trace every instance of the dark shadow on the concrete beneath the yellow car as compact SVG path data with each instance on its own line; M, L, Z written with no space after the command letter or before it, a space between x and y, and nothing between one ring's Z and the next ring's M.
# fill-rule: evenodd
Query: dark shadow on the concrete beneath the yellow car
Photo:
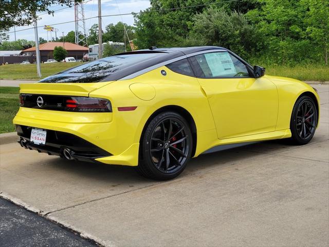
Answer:
M234 165L243 160L263 155L264 153L276 153L285 151L293 146L283 144L281 140L271 140L243 147L232 148L214 153L202 154L192 158L185 171L178 178L182 178L194 173L199 173L214 168L220 168L227 165ZM78 161L67 161L63 158L53 157L48 160L47 165L51 169L62 170L70 173L78 179L96 180L98 182L112 182L113 185L129 184L150 184L157 181L141 177L134 167L107 165L102 163L89 163ZM114 186L115 187L115 186Z

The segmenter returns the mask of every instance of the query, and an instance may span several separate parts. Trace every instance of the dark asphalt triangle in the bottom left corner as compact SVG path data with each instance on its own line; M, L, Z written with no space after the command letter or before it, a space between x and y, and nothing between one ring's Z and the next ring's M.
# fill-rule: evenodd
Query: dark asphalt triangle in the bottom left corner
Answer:
M2 198L0 198L0 243L2 247L97 246Z

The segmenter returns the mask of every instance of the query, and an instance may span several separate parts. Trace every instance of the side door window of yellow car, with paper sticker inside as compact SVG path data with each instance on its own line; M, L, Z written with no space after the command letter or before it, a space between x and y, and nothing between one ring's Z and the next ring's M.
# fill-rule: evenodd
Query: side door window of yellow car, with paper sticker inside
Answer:
M229 52L210 52L195 56L202 73L200 77L249 76L246 65Z

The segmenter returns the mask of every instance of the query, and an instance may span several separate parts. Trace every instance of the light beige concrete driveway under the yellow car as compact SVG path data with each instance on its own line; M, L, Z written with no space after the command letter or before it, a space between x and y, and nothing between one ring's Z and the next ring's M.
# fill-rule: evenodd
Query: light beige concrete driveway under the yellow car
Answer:
M305 146L201 155L175 180L0 146L2 196L105 246L328 246L329 85Z

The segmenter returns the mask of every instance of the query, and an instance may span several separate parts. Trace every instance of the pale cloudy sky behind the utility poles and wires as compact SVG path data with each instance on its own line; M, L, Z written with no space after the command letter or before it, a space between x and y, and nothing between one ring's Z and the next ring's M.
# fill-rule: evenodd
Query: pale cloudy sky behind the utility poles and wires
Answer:
M85 19L92 16L98 16L98 0L85 0L84 1L84 14ZM102 15L109 15L109 14L119 14L120 13L131 13L131 12L139 12L140 10L144 10L148 7L150 7L150 1L149 0L101 0L101 6L102 6ZM49 9L51 10L58 10L61 8L64 8L66 6L58 6L53 5ZM62 32L64 32L64 35L67 34L67 32L75 30L75 23L67 23L67 24L59 24L59 25L52 25L56 23L61 22L69 22L74 21L74 8L66 8L63 10L59 10L54 12L54 15L48 15L48 14L42 14L39 13L41 17L41 20L38 21L38 26L42 26L38 28L38 34L39 37L44 38L47 40L47 31L43 29L43 26L50 25L54 28L58 28L57 37L62 36ZM121 19L122 18L122 19ZM102 18L102 29L104 30L105 26L113 23L116 24L118 22L123 21L124 23L127 23L128 25L134 24L134 18L132 15L123 15L120 16L110 16L110 17L103 17ZM98 23L98 18L89 19L86 20L86 29L87 32L89 28L95 24ZM19 31L21 29L29 28L33 26L22 26L22 27L15 27L16 29L16 40L18 39L25 39L25 40L33 40L34 41L34 30L24 30ZM10 31L14 31L14 28L11 28ZM55 37L55 33L51 33L52 37ZM50 40L50 32L48 32L48 39ZM9 33L9 40L14 41L14 33Z

